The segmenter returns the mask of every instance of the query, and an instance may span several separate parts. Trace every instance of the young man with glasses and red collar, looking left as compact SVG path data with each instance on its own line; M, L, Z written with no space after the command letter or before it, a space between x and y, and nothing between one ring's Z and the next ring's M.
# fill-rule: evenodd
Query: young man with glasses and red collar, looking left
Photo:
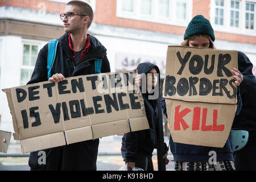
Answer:
M95 60L101 60L101 72L110 72L106 48L87 34L92 24L93 10L84 1L70 1L60 14L65 34L58 40L56 58L51 77L47 79L48 44L44 46L36 60L31 80L27 84L42 81L63 81L66 77L94 74ZM96 170L99 140L87 140L61 147L49 148L46 164L39 164L38 151L30 153L31 170Z

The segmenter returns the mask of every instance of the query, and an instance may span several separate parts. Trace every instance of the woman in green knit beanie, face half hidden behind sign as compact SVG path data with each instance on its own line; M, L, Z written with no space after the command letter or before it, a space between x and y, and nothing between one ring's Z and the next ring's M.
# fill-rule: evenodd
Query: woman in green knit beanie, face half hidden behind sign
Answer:
M184 42L182 46L197 47L197 48L213 48L215 36L212 26L208 19L202 15L196 15L191 22L189 22L187 30L184 35ZM249 59L242 52L238 52L238 68L242 73L246 74L247 68L241 67L249 63ZM240 96L240 84L243 80L243 75L238 69L233 68L232 73L236 79L236 85L238 86L237 92L237 111L236 115L239 114L242 107L242 100ZM166 102L161 102L163 113L167 117ZM221 171L221 170L234 170L234 158L233 148L231 143L231 136L229 135L228 140L223 148L217 147L205 147L195 146L192 144L175 143L170 135L170 147L171 152L174 155L175 170L179 171ZM215 151L217 154L217 163L209 164L210 151Z

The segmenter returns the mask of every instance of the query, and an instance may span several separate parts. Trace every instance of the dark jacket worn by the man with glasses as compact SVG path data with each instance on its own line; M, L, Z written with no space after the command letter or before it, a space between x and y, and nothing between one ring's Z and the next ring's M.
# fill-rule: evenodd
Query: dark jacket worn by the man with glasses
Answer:
M90 48L75 67L72 51L69 48L69 34L59 38L56 58L52 67L52 75L61 73L64 77L90 75L95 73L94 60L102 60L101 72L110 72L110 65L106 56L106 48L94 38L90 38ZM44 46L36 60L31 80L27 84L47 81L48 44ZM31 152L28 165L31 170L96 170L99 140L88 140L61 147L49 148L46 151L46 164L38 164L38 152Z

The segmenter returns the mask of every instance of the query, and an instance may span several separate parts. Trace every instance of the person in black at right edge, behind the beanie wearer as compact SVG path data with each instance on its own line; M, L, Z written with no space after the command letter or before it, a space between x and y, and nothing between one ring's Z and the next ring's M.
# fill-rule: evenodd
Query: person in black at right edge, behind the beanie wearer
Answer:
M256 78L252 73L253 64L241 53L238 67L243 74L240 85L243 101L242 109L234 118L232 128L249 131L246 146L234 152L234 164L237 170L256 170Z

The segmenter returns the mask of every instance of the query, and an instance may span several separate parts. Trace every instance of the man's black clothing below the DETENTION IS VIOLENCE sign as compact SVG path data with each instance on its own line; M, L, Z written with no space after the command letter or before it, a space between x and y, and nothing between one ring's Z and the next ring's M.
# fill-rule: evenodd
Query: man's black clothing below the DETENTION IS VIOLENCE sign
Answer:
M28 165L31 171L96 171L99 139L72 143L44 150L46 164L39 164L38 151L30 153Z

